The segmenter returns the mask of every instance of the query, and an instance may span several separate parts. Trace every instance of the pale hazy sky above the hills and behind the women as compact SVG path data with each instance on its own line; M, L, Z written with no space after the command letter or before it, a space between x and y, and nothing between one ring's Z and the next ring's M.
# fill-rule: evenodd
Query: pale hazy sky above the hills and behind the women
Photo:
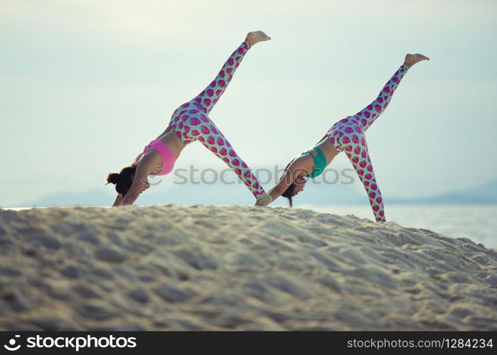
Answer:
M210 114L250 167L284 168L373 101L406 53L422 53L431 60L366 133L381 190L481 185L497 177L496 15L493 0L0 0L0 206L112 193L107 173L131 163L255 30L272 40L247 53ZM176 162L191 165L225 168L198 142ZM341 154L330 167L351 165ZM155 193L173 188L169 178Z

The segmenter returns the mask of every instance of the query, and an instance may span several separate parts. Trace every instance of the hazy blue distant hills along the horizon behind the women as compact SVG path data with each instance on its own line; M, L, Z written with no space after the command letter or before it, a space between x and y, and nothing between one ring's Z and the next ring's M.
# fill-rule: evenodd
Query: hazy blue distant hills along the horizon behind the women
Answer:
M269 186L269 185L267 185ZM151 193L155 190L154 193ZM85 192L59 192L47 195L36 201L27 201L10 207L41 206L110 206L114 202L115 192L112 187ZM493 204L497 203L497 179L468 190L447 192L440 195L403 199L389 197L390 204ZM294 205L299 204L357 204L366 201L365 192L356 190L351 185L335 184L327 186L308 182L305 191L294 198ZM137 200L137 204L253 204L254 199L244 185L174 185L173 187L151 187ZM279 198L275 205L287 204L286 199Z

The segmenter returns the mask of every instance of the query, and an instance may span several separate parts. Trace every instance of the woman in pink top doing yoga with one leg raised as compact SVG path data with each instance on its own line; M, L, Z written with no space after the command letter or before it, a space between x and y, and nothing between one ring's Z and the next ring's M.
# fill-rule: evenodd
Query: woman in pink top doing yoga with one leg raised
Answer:
M141 192L150 187L148 176L170 173L183 148L193 141L201 141L203 146L227 163L252 192L258 205L271 202L271 197L264 192L248 165L208 117L210 110L225 92L245 53L255 43L270 39L262 31L248 33L245 41L230 55L213 82L198 96L173 112L166 131L151 141L132 165L123 168L120 173L109 173L107 183L116 185L118 194L114 206L133 204Z

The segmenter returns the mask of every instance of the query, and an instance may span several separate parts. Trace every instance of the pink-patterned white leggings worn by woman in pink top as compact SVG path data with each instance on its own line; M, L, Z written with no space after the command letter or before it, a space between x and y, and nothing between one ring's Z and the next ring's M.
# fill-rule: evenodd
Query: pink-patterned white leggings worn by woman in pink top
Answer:
M223 160L238 175L238 178L245 183L252 195L257 199L264 189L255 178L252 170L240 158L231 146L228 139L210 120L208 114L213 109L220 96L225 92L226 87L233 78L233 73L240 65L245 53L250 49L250 44L243 42L230 55L219 74L203 92L190 102L182 104L173 112L169 126L176 132L176 136L184 144L193 141L201 143Z

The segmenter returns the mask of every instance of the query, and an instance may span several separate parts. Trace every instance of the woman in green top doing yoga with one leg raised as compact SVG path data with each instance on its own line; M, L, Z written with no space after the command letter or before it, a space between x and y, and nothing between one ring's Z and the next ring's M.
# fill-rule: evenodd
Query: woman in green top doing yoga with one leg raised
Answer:
M282 178L269 191L272 200L279 196L287 197L292 207L292 197L304 190L306 177L315 178L320 175L338 153L345 151L363 182L376 221L385 222L383 199L371 165L364 132L385 111L407 70L420 60L429 58L421 54L407 54L404 63L388 80L375 101L357 114L337 121L316 146L293 158L285 168Z

